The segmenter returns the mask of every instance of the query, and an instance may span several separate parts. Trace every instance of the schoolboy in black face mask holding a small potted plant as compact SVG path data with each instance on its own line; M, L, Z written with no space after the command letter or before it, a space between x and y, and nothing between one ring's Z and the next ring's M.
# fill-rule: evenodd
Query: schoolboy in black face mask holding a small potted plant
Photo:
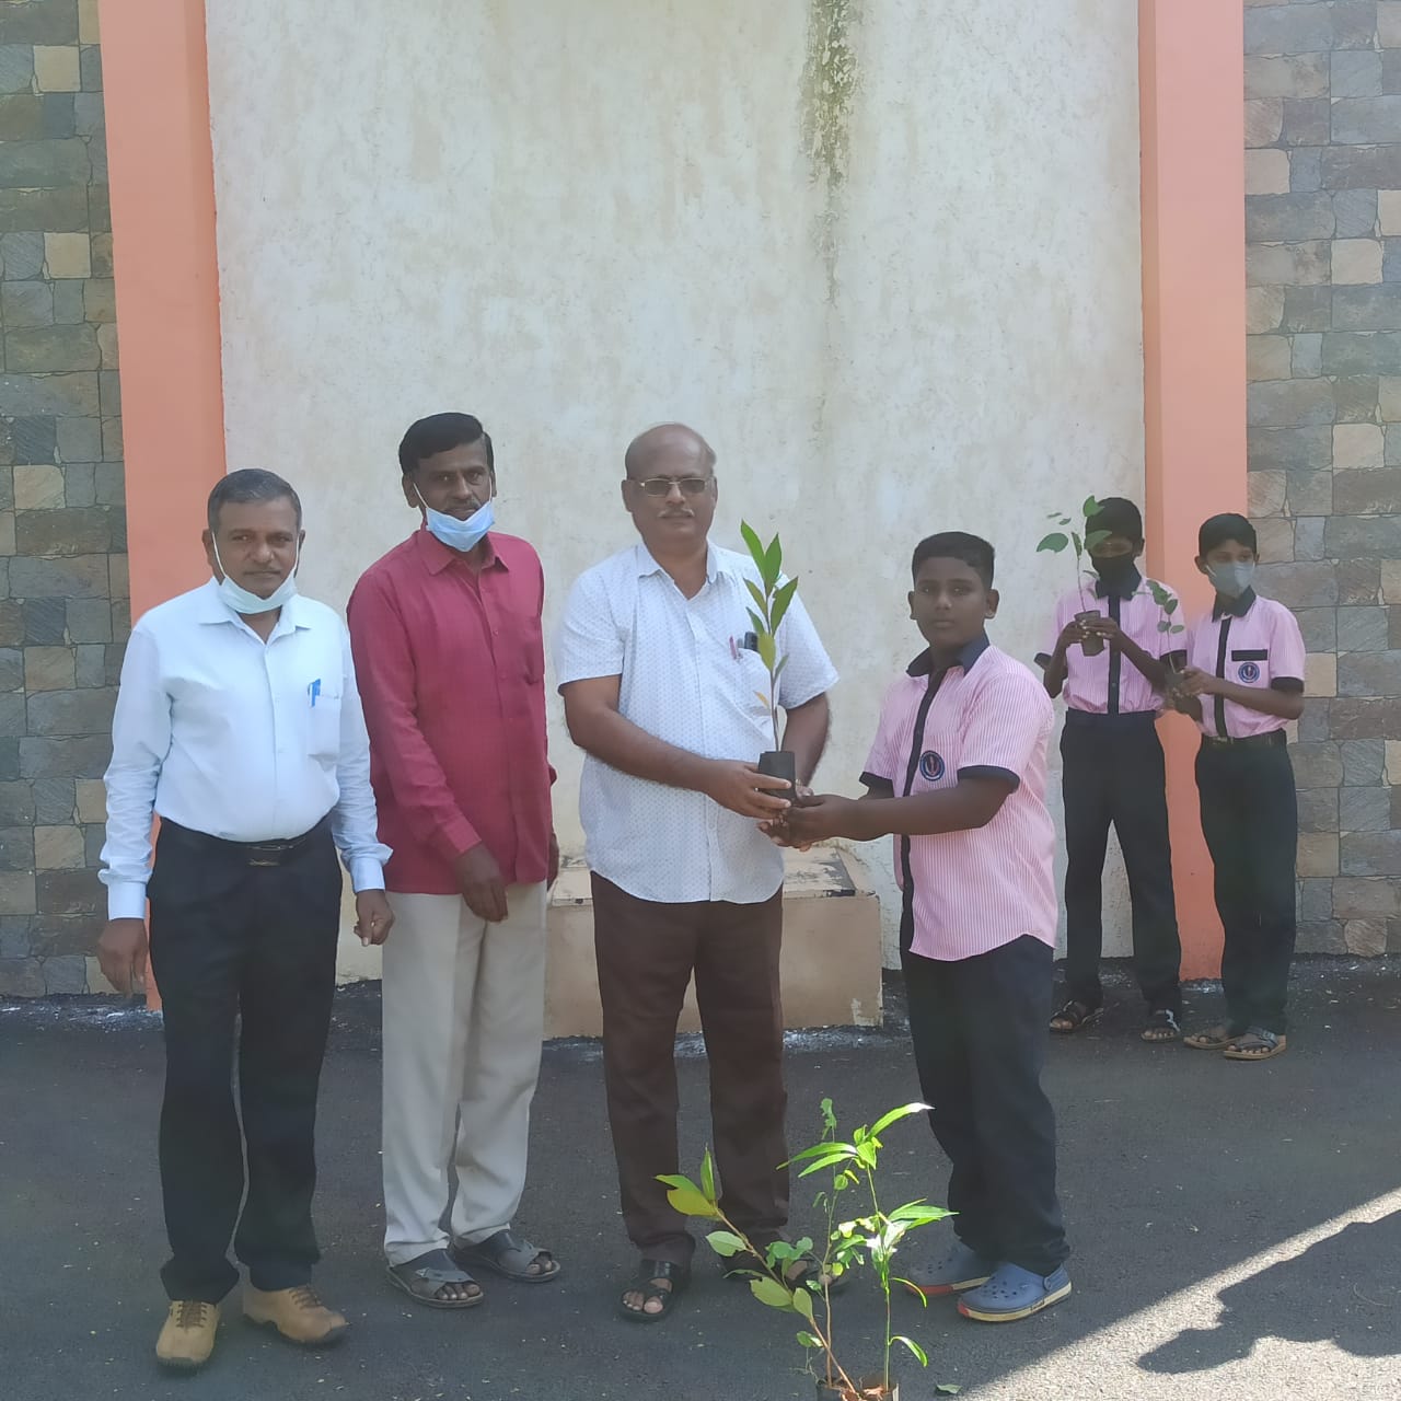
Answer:
M1056 607L1055 643L1042 654L1045 686L1066 700L1061 736L1065 797L1065 1002L1051 1030L1079 1031L1104 1006L1101 897L1110 827L1118 832L1133 911L1133 972L1147 1005L1145 1041L1180 1035L1182 958L1173 897L1163 745L1156 720L1181 664L1173 590L1143 579L1143 518L1105 497L1086 521L1093 590ZM1093 612L1093 618L1086 614ZM1089 644L1089 646L1087 646Z

